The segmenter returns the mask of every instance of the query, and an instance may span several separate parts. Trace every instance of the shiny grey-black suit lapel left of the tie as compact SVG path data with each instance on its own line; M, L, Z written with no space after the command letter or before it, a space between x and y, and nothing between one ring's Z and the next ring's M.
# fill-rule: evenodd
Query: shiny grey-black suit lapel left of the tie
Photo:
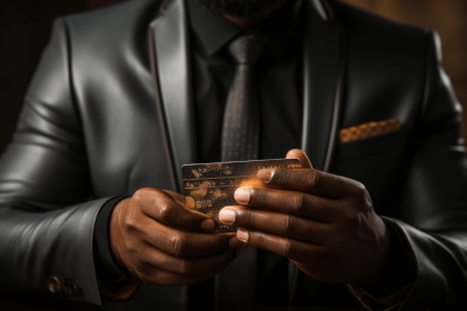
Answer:
M150 57L172 188L180 192L183 189L181 165L196 162L188 19L182 0L166 2L150 26Z

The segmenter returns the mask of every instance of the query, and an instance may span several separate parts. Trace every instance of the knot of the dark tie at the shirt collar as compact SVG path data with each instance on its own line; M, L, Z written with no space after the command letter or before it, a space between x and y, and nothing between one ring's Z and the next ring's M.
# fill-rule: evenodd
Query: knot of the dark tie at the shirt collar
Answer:
M255 64L265 48L252 36L242 36L229 44L229 52L237 63Z

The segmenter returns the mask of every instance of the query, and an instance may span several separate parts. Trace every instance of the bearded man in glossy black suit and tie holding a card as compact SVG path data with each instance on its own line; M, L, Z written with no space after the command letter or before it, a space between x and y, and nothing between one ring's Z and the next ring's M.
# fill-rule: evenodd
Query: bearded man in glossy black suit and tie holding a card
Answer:
M467 165L439 62L436 33L336 1L58 19L0 161L0 287L109 310L465 305ZM302 169L261 170L274 189L220 213L237 234L207 233L179 168L231 160L232 116L251 157L294 149Z

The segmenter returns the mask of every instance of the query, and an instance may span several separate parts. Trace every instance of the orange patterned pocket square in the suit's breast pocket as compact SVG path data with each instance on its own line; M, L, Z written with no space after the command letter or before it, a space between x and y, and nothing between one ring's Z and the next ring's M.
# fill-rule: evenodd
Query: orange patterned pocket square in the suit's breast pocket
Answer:
M399 119L368 122L342 129L339 132L340 142L349 142L400 130Z

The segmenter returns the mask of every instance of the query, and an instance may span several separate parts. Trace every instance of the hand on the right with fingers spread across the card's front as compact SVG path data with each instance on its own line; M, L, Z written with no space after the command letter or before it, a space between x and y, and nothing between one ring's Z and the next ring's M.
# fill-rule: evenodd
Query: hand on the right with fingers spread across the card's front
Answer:
M375 213L365 187L312 169L306 154L299 170L260 170L267 188L239 188L241 207L219 218L240 225L237 237L289 258L309 277L328 283L375 284L389 252L390 233Z

